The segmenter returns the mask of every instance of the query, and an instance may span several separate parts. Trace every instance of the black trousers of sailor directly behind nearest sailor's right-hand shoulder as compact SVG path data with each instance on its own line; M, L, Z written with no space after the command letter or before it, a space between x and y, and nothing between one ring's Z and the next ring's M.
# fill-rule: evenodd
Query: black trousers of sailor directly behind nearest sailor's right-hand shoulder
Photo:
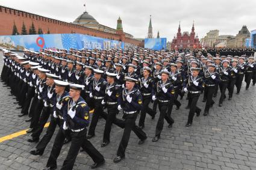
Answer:
M103 113L103 106L101 104L102 99L95 99L93 101L95 103L95 109L93 112L92 121L91 121L89 132L88 132L88 135L92 135L92 136L95 135L95 129L96 129L99 117L101 116L105 120L107 119L107 115Z

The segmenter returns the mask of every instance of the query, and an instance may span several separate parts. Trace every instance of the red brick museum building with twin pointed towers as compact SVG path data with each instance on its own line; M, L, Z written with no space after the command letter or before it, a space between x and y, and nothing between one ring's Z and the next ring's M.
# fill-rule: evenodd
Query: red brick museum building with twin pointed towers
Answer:
M178 32L176 37L173 37L171 49L179 48L198 48L199 47L199 38L195 33L195 25L193 23L191 32L183 32L181 34L181 25L179 24Z

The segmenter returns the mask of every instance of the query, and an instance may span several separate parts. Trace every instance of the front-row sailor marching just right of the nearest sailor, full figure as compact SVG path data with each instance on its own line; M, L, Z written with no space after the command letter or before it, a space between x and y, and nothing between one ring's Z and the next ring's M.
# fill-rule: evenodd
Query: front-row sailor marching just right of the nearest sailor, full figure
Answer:
M140 94L140 91L134 87L137 79L125 77L125 81L126 88L122 91L122 99L120 101L121 105L117 106L119 111L123 109L125 127L123 129L123 136L117 150L117 157L114 158L115 163L120 162L125 158L125 150L130 139L131 130L136 127L135 121L139 111L142 109L142 94ZM136 135L140 138L139 144L143 144L147 138L146 133L141 129L137 129Z

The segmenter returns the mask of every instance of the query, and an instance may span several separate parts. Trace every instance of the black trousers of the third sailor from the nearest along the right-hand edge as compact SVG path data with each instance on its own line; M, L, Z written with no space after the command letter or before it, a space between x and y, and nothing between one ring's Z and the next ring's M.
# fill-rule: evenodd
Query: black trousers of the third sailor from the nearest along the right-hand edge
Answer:
M174 123L174 120L172 119L172 117L170 117L170 115L167 114L167 109L168 109L169 105L172 105L172 102L160 102L160 101L158 101L158 109L160 111L160 115L159 115L159 118L158 118L158 121L157 121L157 127L155 128L155 136L158 136L158 138L160 138L161 132L163 130L164 119L169 124Z

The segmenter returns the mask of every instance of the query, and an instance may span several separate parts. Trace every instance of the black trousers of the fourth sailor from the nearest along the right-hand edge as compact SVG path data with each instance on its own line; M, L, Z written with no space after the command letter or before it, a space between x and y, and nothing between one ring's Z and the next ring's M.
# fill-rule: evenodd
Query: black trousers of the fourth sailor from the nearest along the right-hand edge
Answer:
M201 109L196 106L196 103L198 103L198 99L200 96L200 93L188 93L189 97L189 118L187 119L187 123L193 123L193 118L195 115L195 112L198 113L201 111Z

